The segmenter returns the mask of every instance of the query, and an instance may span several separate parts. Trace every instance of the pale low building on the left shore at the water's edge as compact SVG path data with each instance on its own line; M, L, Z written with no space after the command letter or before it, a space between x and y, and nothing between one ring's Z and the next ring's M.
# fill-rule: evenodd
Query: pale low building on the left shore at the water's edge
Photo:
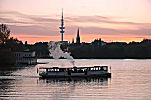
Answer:
M16 64L27 64L27 65L37 64L35 51L25 50L21 52L15 52L14 56L16 58Z

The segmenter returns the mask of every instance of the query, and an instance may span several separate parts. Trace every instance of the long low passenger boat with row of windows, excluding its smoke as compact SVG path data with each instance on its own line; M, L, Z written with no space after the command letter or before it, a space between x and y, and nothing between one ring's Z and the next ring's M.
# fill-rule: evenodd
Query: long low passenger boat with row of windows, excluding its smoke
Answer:
M111 70L111 68L110 68ZM70 67L70 68L39 68L41 78L92 78L111 77L108 66Z

